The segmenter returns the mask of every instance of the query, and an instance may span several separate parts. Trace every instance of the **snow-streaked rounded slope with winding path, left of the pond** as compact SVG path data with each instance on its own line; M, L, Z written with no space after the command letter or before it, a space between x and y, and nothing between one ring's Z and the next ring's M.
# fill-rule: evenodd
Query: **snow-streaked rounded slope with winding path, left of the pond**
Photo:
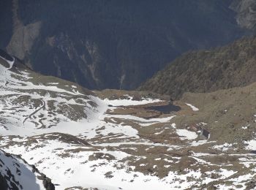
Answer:
M18 134L35 134L33 129L50 130L50 126L64 121L89 118L86 114L96 106L86 88L39 75L3 51L0 51L0 63L2 134L8 134L8 128L17 130Z

